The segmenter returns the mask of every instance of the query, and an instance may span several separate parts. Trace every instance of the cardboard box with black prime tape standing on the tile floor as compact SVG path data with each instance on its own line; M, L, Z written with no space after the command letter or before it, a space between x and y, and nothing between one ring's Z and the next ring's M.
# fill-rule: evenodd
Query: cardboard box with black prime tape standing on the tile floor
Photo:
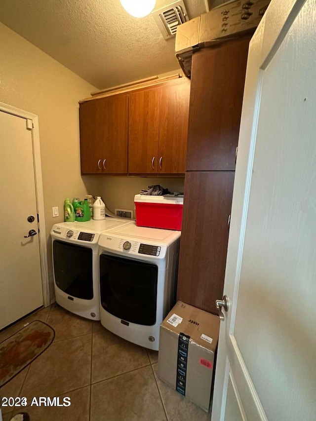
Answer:
M220 320L181 301L160 325L158 377L209 410Z

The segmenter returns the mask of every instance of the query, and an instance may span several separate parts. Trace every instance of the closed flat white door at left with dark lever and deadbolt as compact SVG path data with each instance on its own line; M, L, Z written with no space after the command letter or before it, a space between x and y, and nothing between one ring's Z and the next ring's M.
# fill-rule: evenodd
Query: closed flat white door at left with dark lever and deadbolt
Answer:
M43 295L32 120L1 111L0 145L2 329L42 306ZM25 238L31 230L35 235Z

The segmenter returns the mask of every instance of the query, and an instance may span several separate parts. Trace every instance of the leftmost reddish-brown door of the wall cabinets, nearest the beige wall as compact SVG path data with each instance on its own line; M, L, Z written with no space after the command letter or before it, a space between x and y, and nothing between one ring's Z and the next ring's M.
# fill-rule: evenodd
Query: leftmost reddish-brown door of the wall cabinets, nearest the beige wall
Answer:
M81 174L102 174L104 158L99 109L97 101L83 102L79 106Z

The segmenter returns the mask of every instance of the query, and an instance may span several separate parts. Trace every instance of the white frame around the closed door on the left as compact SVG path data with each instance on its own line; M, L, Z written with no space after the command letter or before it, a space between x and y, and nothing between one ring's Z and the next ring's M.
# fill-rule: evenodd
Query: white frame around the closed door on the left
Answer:
M43 305L47 307L50 305L49 285L48 285L48 265L47 265L47 246L46 246L46 230L45 230L45 212L44 212L44 195L43 183L41 175L41 161L40 161L40 131L39 131L39 117L36 114L20 110L16 107L3 104L0 102L0 112L16 115L17 117L32 120L32 140L33 140L33 159L34 159L34 173L35 173L35 189L38 213L40 215L39 221L39 242L40 242L40 271L41 284L43 292Z

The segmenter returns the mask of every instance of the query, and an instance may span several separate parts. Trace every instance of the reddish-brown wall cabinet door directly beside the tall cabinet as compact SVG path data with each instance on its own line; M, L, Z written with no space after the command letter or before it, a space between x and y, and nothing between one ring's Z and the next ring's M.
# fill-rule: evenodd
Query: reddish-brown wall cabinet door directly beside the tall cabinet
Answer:
M186 169L190 81L160 88L158 174Z

